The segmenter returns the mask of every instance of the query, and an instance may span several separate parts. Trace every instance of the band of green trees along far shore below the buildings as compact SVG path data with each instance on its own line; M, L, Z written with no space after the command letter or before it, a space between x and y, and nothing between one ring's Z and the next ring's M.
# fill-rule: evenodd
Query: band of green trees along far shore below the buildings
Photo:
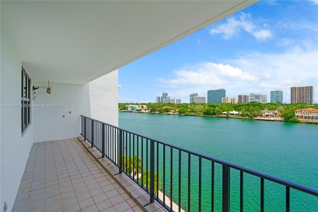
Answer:
M318 104L305 104L305 103L297 103L297 104L274 104L274 103L238 103L238 104L216 104L216 103L208 103L208 104L196 104L196 103L182 103L182 104L172 104L172 103L119 103L118 108L120 110L126 110L126 105L143 105L147 106L150 112L159 112L159 113L168 113L177 111L179 114L184 115L223 115L225 111L238 111L239 116L241 117L257 117L259 116L260 110L278 110L280 114L277 114L288 122L297 122L298 119L295 117L295 110L304 109L304 108L316 108L318 109ZM229 115L229 114L226 114Z

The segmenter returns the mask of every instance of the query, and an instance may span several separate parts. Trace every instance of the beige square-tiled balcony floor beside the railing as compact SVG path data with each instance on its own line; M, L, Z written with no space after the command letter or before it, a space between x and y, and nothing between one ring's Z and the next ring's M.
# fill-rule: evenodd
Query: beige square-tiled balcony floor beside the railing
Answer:
M77 138L35 143L12 212L141 212Z

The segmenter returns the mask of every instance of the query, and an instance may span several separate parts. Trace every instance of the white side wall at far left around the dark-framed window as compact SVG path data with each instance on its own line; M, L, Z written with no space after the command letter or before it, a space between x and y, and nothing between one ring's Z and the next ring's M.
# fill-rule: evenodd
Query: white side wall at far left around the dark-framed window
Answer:
M1 104L21 104L21 59L2 31L0 67ZM0 210L3 210L3 204L6 202L9 212L12 210L33 144L34 125L31 124L22 136L21 108L2 105L0 126Z

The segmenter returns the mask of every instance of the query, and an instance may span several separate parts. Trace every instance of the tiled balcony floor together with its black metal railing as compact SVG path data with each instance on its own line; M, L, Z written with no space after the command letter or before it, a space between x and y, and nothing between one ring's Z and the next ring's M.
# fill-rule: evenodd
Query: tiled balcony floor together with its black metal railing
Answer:
M260 211L264 211L265 206L265 181L285 188L286 212L293 211L291 191L299 191L314 201L318 197L316 189L156 141L86 116L81 116L81 135L83 137L33 144L13 212L188 212L214 211L216 208L229 212L233 200L231 172L235 170L239 171L240 211L244 209L246 175L259 179ZM206 162L210 163L209 171L202 168ZM204 184L203 188L206 172L210 172L210 185ZM184 179L181 175L187 179L187 188L181 186L181 179ZM215 201L218 175L222 178L221 203ZM191 186L193 178L198 180L196 189ZM247 186L250 188L251 185ZM210 189L206 190L206 187ZM192 200L194 196L198 199ZM203 196L211 197L208 201L210 209L202 201Z

